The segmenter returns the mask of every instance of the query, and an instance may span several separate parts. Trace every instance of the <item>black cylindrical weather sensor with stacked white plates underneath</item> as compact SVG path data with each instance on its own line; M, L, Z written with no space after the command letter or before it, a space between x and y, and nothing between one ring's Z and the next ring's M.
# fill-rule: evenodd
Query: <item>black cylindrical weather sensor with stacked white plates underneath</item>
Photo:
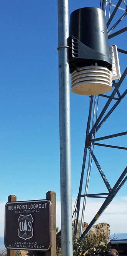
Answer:
M112 59L104 11L85 7L72 12L69 44L72 92L94 95L110 91Z

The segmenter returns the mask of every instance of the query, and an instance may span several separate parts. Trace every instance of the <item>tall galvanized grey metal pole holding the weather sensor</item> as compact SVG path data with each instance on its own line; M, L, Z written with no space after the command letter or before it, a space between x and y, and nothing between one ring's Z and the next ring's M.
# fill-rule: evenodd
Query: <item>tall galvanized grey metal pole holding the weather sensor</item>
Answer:
M58 0L60 193L62 256L72 256L68 0Z

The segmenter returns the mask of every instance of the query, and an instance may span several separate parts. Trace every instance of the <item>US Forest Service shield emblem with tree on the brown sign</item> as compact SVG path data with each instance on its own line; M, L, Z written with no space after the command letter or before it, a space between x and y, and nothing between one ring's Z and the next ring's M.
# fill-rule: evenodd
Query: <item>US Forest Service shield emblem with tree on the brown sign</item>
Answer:
M27 240L33 237L33 217L31 214L20 214L18 224L18 236L20 238Z

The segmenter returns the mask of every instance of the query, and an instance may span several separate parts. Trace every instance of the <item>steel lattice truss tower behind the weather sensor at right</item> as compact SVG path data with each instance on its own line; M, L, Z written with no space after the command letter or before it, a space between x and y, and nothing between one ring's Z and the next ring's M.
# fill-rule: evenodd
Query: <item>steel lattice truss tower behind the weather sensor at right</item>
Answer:
M116 32L113 33L113 30L117 28L118 24L125 18L127 15L127 4L125 0L102 0L100 2L100 8L105 11L105 15L107 17L107 31L108 31L108 38L114 38L115 36L124 33L127 31L127 27L122 27L122 29L118 29ZM112 13L111 13L112 10ZM118 19L117 17L122 11L122 16ZM110 27L110 23L114 21L114 25ZM121 22L122 24L122 22ZM110 28L109 28L110 27ZM118 26L119 27L119 26ZM119 45L118 52L121 52L123 54L127 54L127 51L124 49L120 49ZM104 139L110 139L113 137L118 136L124 136L127 134L127 131L120 132L116 134L111 134L103 137L95 137L97 134L97 131L102 127L102 125L105 124L105 121L110 117L111 113L117 108L121 100L126 96L127 89L120 94L120 86L122 85L122 82L124 81L125 77L127 75L127 67L125 68L121 78L119 80L113 81L112 84L112 93L110 95L104 95L100 94L99 96L90 96L90 107L89 107L89 115L88 115L88 121L87 121L87 129L86 129L86 138L85 138L85 148L84 148L84 157L83 157L83 163L82 163L82 171L81 171L81 177L80 177L80 186L79 186L79 193L77 196L77 201L75 204L74 214L75 216L75 222L74 222L74 231L75 235L77 234L77 227L78 227L78 220L79 220L79 212L81 208L81 198L84 198L84 203L82 207L82 219L81 219L81 227L80 227L80 240L87 235L89 230L92 228L94 223L98 220L99 216L104 212L104 210L107 208L107 206L110 204L112 199L114 199L117 192L121 189L121 187L125 184L127 181L127 167L124 169L124 171L121 173L119 179L115 183L114 187L111 187L109 184L109 181L107 180L104 171L102 170L95 154L94 154L94 147L95 146L102 146L102 147L109 147L109 148L117 148L117 149L123 149L127 150L126 147L122 146L115 146L110 144L102 144L100 141ZM98 102L100 97L107 98L107 102L100 112L99 116L97 117L97 109L98 109ZM107 110L108 108L108 110ZM92 111L93 111L93 117L92 117ZM106 112L106 113L105 113ZM90 127L91 130L90 130ZM87 161L87 153L89 152L88 161ZM98 193L98 194L88 194L88 186L89 186L89 180L90 180L90 171L92 166L92 161L95 162L95 165L102 177L102 180L104 181L105 186L107 187L107 193ZM88 162L88 166L86 166L86 163ZM83 190L83 184L84 184L84 170L87 167L87 174L86 174L86 180L85 180L85 193L82 194ZM85 206L86 206L86 199L87 198L104 198L105 201L100 207L97 214L94 216L92 221L89 223L87 229L83 232L83 223L84 223L84 212L85 212Z

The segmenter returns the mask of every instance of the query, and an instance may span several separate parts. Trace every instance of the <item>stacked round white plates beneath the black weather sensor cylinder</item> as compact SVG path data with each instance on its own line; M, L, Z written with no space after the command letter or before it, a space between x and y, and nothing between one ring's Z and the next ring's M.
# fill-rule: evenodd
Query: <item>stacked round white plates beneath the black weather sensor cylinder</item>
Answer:
M112 73L106 67L81 67L71 74L71 91L80 95L98 95L112 89Z

